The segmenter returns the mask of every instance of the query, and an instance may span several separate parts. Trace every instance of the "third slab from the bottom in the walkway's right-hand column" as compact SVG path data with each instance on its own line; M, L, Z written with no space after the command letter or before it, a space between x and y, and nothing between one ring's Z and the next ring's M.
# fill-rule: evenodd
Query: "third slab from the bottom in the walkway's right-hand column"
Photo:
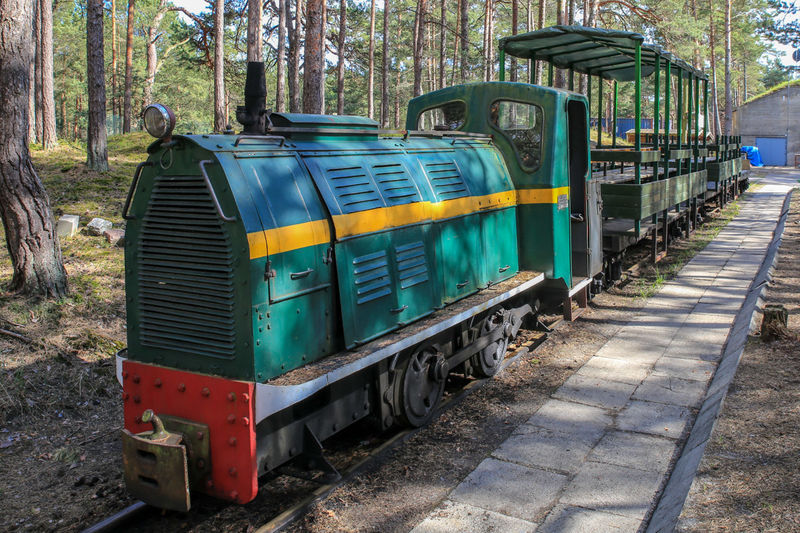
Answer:
M589 461L664 473L675 441L641 433L609 431L589 454Z

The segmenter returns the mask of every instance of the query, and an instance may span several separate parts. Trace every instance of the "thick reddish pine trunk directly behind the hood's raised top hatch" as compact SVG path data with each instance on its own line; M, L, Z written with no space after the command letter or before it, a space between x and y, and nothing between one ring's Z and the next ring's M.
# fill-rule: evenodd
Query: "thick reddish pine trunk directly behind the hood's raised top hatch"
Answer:
M306 50L303 69L303 113L325 112L324 0L307 0Z

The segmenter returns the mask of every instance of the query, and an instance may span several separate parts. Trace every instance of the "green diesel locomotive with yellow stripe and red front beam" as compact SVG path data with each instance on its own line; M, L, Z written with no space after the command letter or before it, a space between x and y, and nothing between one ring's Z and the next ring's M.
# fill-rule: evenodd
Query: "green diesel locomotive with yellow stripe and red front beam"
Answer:
M528 36L522 57L552 34ZM336 475L321 441L365 417L426 423L451 372L493 375L540 301L585 303L611 264L581 94L451 87L412 100L404 131L268 114L264 94L251 64L239 134L172 135L166 107L145 112L158 140L125 206L118 368L126 483L163 508L191 490L248 502L290 460ZM638 186L651 159L631 154ZM667 161L653 181L681 175ZM669 201L688 219L705 193ZM634 241L649 227L631 218Z

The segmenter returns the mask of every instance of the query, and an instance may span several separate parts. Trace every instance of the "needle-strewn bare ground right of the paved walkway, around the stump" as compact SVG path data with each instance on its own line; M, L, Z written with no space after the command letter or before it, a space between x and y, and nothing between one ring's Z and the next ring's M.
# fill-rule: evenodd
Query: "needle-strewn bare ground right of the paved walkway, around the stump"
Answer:
M678 531L800 530L800 194L794 193L765 302L788 334L751 338Z

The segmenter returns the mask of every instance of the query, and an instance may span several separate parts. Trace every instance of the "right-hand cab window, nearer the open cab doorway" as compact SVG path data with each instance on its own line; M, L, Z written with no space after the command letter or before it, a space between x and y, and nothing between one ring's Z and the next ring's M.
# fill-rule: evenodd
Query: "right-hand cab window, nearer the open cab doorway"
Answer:
M534 104L497 100L489 106L489 122L514 145L520 166L536 170L542 160L542 108Z

